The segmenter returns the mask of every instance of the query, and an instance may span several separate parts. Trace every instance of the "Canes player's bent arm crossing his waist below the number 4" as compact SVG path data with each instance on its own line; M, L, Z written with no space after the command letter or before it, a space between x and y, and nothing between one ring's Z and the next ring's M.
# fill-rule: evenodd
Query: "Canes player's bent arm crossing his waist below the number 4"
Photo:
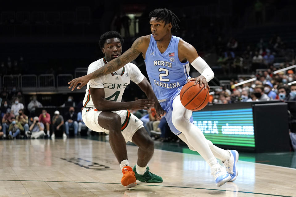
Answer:
M90 95L92 102L99 111L119 111L128 109L144 109L148 110L149 107L153 107L153 99L139 99L132 102L116 102L105 100L104 88L90 88Z

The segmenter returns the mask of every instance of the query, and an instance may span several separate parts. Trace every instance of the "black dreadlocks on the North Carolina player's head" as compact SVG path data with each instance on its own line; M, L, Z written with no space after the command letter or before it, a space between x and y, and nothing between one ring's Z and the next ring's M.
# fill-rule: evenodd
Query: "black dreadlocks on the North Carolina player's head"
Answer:
M171 22L172 29L175 31L179 29L178 22L180 22L180 20L171 10L167 10L166 8L155 9L149 13L149 20L152 17L156 17L156 20L164 21L164 25Z

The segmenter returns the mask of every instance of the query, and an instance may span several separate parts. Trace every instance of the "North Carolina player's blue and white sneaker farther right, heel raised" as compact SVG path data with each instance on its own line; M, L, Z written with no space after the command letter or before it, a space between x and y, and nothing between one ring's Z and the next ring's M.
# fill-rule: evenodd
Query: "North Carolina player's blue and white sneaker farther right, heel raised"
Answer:
M238 170L236 168L236 163L238 161L238 152L236 150L227 150L230 153L230 158L229 160L226 160L225 162L223 162L226 171L228 172L228 174L230 175L231 179L229 180L229 182L232 182L236 179L237 175L238 175Z

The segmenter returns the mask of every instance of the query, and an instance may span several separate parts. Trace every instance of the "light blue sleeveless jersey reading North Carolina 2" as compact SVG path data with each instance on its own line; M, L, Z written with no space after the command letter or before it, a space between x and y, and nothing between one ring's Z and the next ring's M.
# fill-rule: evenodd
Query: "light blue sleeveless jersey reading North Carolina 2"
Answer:
M158 100L170 99L182 88L189 77L189 62L181 63L178 57L178 44L182 38L172 36L164 53L160 53L156 41L150 35L150 43L146 52L146 70Z

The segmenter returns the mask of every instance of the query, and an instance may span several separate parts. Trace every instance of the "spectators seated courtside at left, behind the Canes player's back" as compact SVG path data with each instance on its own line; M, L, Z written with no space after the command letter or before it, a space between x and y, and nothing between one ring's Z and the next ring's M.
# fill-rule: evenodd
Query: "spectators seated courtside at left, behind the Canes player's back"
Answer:
M42 103L37 100L36 95L33 95L31 101L26 104L22 91L18 88L14 87L10 91L3 88L0 92L0 138L51 137L51 139L55 139L55 134L59 132L66 139L71 128L74 130L75 136L80 135L82 129L87 130L87 134L90 135L91 130L85 126L82 120L81 111L83 108L80 105L79 103L77 105L79 108L76 108L79 111L77 115L73 107L75 106L73 97L69 96L62 105L69 111L63 115L60 115L59 111L55 111L51 116L46 108L43 108ZM43 109L41 114L36 114L38 108Z

